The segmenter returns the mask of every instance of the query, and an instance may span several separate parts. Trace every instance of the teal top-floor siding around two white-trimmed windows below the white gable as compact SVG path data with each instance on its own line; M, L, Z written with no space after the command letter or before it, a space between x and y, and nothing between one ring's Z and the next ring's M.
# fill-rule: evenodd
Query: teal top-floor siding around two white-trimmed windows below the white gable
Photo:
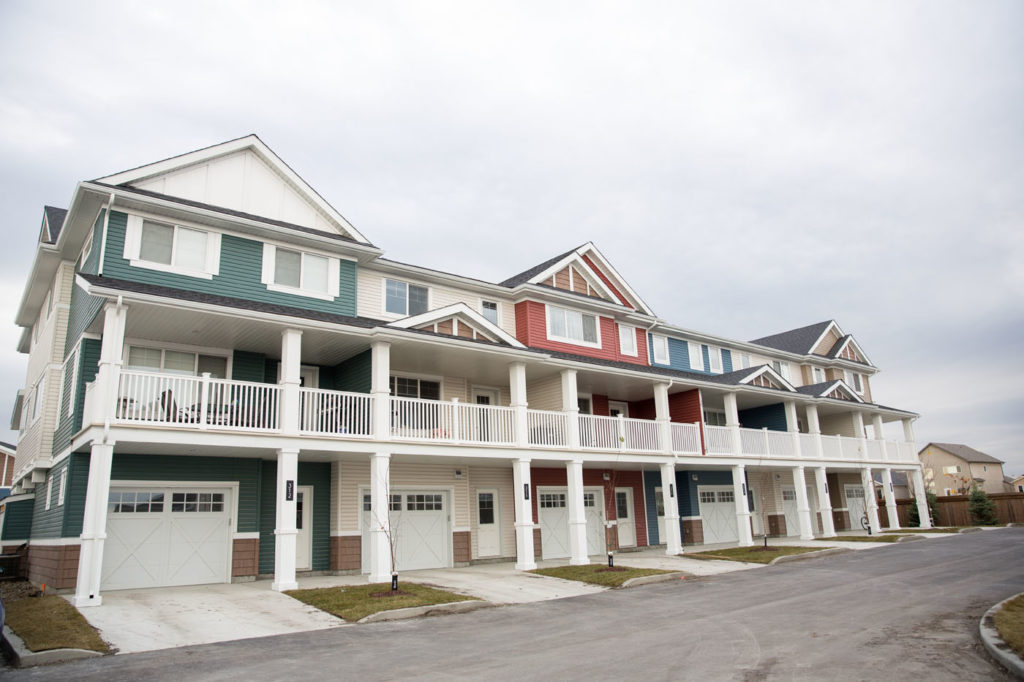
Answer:
M118 211L111 213L103 276L319 312L355 315L356 264L352 261L340 261L339 290L333 301L268 291L260 282L263 273L263 244L231 235L221 237L220 273L212 280L132 267L123 257L127 218L126 214Z

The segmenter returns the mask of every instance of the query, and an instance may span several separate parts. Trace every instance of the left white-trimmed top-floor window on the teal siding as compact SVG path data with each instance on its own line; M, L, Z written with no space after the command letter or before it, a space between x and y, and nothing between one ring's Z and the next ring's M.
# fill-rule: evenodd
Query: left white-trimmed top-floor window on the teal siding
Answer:
M219 272L220 235L130 215L124 257L136 267L211 279Z

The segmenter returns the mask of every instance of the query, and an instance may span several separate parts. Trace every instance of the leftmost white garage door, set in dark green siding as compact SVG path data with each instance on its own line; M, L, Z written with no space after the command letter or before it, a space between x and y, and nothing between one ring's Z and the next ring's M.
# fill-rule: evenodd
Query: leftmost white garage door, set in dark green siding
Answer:
M111 488L103 590L230 580L230 488Z

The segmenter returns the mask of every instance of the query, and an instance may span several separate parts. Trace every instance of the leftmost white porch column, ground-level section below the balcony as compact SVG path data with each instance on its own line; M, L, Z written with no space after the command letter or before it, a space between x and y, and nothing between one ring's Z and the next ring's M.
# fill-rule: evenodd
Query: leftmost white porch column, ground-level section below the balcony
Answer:
M99 595L99 582L102 577L103 541L106 539L106 499L111 493L113 462L113 443L92 443L89 455L89 483L85 492L85 510L82 517L78 581L75 585L75 598L72 600L79 608L99 606L103 602Z

